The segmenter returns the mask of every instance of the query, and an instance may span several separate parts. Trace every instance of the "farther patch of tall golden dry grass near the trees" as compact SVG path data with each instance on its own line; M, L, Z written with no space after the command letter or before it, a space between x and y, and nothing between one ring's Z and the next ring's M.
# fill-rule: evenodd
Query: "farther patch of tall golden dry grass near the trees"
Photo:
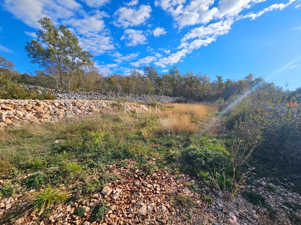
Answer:
M185 103L174 103L166 104L166 107L173 108L172 113L177 115L190 115L195 118L204 118L208 114L215 113L218 111L218 106L214 104L185 104Z

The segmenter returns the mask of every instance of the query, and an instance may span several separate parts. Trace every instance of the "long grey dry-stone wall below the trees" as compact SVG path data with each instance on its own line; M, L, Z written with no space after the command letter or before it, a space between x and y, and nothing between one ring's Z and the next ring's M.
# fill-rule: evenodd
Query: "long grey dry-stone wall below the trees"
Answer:
M113 92L84 92L84 91L61 91L49 88L43 88L34 85L23 86L29 91L36 91L41 94L42 92L51 92L58 100L127 100L130 102L140 102L142 104L150 104L156 101L159 104L172 103L177 101L177 97L169 97L163 95L133 95L124 93L113 93Z

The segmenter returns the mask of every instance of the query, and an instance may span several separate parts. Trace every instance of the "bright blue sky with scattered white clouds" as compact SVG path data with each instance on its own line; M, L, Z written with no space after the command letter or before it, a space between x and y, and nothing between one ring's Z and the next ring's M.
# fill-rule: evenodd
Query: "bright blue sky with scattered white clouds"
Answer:
M301 86L300 0L2 0L0 54L33 71L24 44L44 16L95 55L101 73L150 65L166 73L241 79L249 73Z

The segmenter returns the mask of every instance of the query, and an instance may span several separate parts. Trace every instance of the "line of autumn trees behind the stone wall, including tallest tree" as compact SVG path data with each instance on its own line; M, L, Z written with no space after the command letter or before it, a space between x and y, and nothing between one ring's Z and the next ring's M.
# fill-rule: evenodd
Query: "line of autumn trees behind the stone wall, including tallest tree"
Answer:
M6 79L9 82L66 91L113 91L183 97L194 101L222 101L233 95L242 95L265 82L262 77L255 78L253 74L236 81L219 75L212 78L193 71L182 73L178 66L162 74L158 74L154 67L145 66L132 69L129 76L105 76L95 68L93 54L82 50L76 35L67 27L55 27L48 17L40 19L39 23L42 29L37 33L37 40L26 42L25 45L27 55L32 63L39 64L39 70L34 71L35 74L21 74L14 71L12 61L0 55L0 88L5 87L3 80ZM300 93L301 88L295 92Z

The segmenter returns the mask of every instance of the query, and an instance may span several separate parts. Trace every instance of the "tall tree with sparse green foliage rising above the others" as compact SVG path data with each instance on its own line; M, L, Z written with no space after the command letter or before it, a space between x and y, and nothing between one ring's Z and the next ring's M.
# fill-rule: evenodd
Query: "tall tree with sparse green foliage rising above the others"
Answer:
M94 67L93 55L83 51L76 35L66 26L55 27L48 17L39 20L42 29L37 40L26 42L25 51L31 62L39 64L62 90L72 89L76 73Z

